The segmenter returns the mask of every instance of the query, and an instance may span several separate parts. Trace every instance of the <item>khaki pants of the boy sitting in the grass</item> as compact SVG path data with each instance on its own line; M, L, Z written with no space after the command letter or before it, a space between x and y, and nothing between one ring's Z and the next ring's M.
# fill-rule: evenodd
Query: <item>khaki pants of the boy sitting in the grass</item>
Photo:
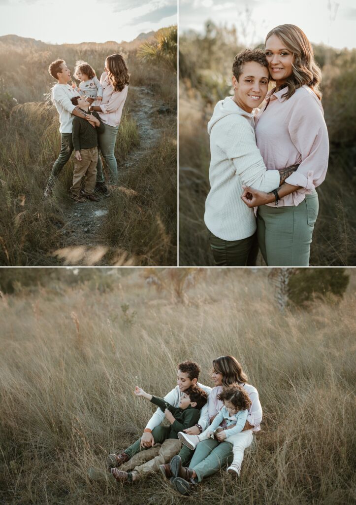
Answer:
M150 449L138 452L130 461L120 467L124 472L134 469L140 475L156 473L159 465L169 463L179 453L182 442L176 438L167 438L162 444L155 444Z

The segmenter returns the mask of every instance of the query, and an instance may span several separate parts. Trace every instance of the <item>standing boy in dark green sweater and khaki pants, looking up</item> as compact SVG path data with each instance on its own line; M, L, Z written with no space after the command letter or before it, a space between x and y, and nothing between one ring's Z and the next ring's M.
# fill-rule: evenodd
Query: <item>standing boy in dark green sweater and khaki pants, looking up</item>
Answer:
M89 103L81 96L73 96L71 102L78 106L85 114L93 115L97 122L92 126L87 119L75 117L73 119L73 147L75 150L75 164L73 173L73 185L71 187L72 198L76 201L98 201L93 194L96 182L96 164L98 162L98 133L103 133L104 124L97 112L88 113ZM85 179L84 191L81 192L81 183Z

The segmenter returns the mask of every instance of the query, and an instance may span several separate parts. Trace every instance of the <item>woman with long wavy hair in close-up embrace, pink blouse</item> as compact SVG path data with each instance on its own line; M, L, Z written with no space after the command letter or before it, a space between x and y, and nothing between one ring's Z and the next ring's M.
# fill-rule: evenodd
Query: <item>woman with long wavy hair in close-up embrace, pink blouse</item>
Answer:
M311 43L295 25L273 28L265 53L276 87L255 119L257 146L269 170L299 167L270 193L245 186L242 199L258 207L257 237L266 265L309 266L319 211L315 188L325 179L329 156L321 71Z

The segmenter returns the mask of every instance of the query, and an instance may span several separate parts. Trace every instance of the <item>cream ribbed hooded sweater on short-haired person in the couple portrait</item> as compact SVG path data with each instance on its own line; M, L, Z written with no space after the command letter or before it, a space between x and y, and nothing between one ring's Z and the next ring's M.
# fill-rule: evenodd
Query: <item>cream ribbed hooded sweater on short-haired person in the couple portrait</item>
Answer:
M241 199L242 185L272 191L279 186L279 172L267 171L263 162L256 144L254 111L250 114L241 109L232 96L216 104L208 133L211 189L204 221L222 240L242 240L256 231L254 211Z

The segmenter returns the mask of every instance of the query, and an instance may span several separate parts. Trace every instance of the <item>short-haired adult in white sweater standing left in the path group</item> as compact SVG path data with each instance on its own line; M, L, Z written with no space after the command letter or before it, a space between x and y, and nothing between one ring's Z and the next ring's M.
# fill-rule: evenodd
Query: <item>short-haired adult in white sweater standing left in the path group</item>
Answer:
M48 72L57 81L52 87L51 98L52 104L60 115L61 151L53 164L47 187L44 191L46 198L52 194L55 180L71 157L73 151L73 117L87 118L87 121L92 121L92 124L96 121L94 116L84 113L79 110L79 107L75 107L71 103L71 98L76 95L79 96L79 93L68 84L71 79L71 71L67 67L66 62L64 60L55 60L49 65ZM100 184L103 185L102 194L108 195L105 184Z

